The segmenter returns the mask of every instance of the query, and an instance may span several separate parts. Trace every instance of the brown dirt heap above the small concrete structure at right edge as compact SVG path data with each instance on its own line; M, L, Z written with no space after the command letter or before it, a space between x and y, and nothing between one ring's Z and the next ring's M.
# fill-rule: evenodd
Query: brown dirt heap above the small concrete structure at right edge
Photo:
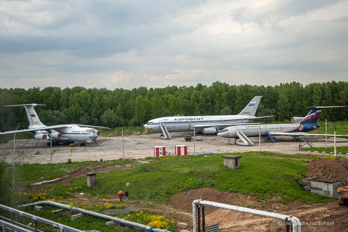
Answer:
M342 181L342 186L346 186L348 178L348 161L341 159L312 159L306 165L310 170L306 177L323 177L338 179Z

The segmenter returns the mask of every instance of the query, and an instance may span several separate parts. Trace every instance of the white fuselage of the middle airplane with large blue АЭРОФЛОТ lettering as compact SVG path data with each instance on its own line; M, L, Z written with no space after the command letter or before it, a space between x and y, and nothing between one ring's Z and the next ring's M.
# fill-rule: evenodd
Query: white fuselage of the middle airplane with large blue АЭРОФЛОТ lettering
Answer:
M248 123L252 121L253 118L255 118L255 116L249 115L162 117L150 120L144 125L144 127L149 130L161 132L161 123L167 127L168 132L193 131L194 126L196 127L196 131L201 131L204 128L209 127L216 127L217 129L220 129L230 124Z

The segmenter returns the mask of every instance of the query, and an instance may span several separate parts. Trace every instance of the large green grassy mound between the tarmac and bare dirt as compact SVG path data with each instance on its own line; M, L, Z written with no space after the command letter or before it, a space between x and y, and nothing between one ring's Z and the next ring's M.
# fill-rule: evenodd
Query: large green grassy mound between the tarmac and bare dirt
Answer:
M70 179L76 183L69 187L56 184L48 186L46 191L52 192L52 196L59 191L84 192L98 196L116 194L118 189L125 189L126 183L129 182L129 199L159 202L168 202L175 194L200 188L253 194L257 195L260 201L269 198L269 191L272 191L282 197L284 204L294 199L315 203L335 200L311 194L296 182L297 179L304 178L309 171L302 164L303 157L300 155L271 152L246 152L240 155L243 157L239 169L224 167L221 155L156 158L156 162L131 169L98 173L97 185L92 188L86 187L86 177L83 176ZM315 156L305 157L310 159Z

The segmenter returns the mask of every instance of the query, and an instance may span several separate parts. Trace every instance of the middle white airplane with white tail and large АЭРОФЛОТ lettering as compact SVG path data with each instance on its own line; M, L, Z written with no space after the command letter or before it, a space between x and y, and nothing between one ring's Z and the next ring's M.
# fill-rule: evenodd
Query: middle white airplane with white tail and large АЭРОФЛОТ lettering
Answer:
M255 96L237 115L161 117L150 120L144 127L165 134L165 128L168 132L184 132L193 131L193 127L195 127L196 131L202 131L204 134L216 134L230 125L248 123L256 118L274 117L254 116L261 98L262 96ZM161 138L163 137L161 136ZM166 134L166 138L171 137Z

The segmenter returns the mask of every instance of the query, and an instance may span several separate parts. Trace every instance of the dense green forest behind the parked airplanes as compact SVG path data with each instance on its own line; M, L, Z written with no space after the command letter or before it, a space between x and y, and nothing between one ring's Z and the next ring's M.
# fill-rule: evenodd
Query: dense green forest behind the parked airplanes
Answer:
M254 96L263 96L257 116L278 115L268 119L288 122L291 117L306 116L308 106L347 106L348 82L280 83L276 86L229 85L214 82L211 86L139 87L127 89L86 89L40 87L1 89L1 106L37 103L39 118L46 125L78 123L85 125L142 125L162 116L238 114ZM338 120L346 120L348 109L325 109L319 119L332 120L332 111L339 111ZM22 107L0 108L0 131L28 125Z

